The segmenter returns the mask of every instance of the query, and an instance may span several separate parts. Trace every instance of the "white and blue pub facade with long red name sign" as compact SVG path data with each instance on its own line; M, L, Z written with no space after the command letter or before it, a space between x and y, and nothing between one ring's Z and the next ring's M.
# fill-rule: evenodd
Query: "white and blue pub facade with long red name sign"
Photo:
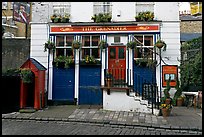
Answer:
M125 17L125 10L118 17L119 9L137 9L135 2L112 2L111 22L91 21L93 11L83 17L76 14L76 7L91 9L94 4L70 2L72 18L68 23L40 22L33 16L31 57L47 66L48 101L155 114L153 105L160 101L165 78L170 74L179 77L178 71L164 74L163 70L163 66L179 65L179 15L166 17L162 12L164 7L169 13L172 8L177 11L177 3L170 3L170 8L166 3L154 2L154 20L144 22L135 21L134 12L132 17L128 13ZM81 19L75 18L76 15ZM159 39L166 42L166 51L155 47ZM43 51L48 40L55 48ZM74 42L79 42L78 47L73 46ZM137 43L134 48L129 47L131 42ZM63 58L67 65L60 66Z

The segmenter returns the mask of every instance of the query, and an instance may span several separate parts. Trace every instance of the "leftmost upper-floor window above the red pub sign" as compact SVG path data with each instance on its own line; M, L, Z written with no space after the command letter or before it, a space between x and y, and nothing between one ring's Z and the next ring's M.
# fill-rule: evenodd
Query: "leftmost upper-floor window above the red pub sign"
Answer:
M64 15L65 13L70 14L71 5L70 2L56 2L53 5L53 13L57 15Z

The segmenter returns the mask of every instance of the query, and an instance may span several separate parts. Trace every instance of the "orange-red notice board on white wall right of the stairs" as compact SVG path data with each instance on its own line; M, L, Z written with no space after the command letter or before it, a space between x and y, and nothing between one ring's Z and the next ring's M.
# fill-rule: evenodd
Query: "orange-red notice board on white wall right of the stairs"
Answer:
M166 83L170 78L170 86L176 86L176 79L178 77L177 65L163 65L162 66L162 87L166 87Z

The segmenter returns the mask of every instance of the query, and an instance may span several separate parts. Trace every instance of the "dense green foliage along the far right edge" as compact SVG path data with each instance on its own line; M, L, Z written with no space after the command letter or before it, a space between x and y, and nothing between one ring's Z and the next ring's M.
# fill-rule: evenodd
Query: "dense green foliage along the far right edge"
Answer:
M185 42L182 53L187 53L187 59L180 65L181 87L202 86L202 37Z

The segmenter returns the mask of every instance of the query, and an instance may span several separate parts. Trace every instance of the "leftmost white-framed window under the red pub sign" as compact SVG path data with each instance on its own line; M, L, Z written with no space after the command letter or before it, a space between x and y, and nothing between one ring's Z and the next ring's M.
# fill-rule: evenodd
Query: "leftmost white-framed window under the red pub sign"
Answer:
M73 35L58 35L56 36L56 56L73 56L72 41Z

